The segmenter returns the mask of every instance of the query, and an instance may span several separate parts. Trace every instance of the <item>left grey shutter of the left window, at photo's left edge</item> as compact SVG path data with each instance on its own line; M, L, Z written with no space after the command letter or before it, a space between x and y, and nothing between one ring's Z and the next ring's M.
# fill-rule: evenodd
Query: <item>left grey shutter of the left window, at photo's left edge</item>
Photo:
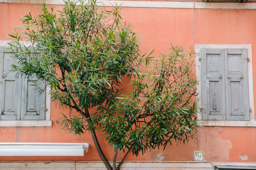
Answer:
M20 120L21 78L17 72L10 72L11 65L16 64L12 54L4 47L0 47L0 50L0 120Z

